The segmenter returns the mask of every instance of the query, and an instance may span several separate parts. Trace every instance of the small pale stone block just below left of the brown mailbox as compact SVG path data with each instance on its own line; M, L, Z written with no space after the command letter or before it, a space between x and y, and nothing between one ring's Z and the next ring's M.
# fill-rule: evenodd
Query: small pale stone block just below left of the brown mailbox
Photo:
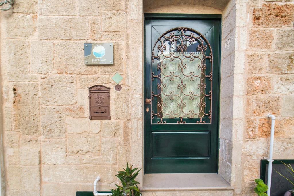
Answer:
M87 118L66 118L66 131L69 134L89 132L89 119Z

